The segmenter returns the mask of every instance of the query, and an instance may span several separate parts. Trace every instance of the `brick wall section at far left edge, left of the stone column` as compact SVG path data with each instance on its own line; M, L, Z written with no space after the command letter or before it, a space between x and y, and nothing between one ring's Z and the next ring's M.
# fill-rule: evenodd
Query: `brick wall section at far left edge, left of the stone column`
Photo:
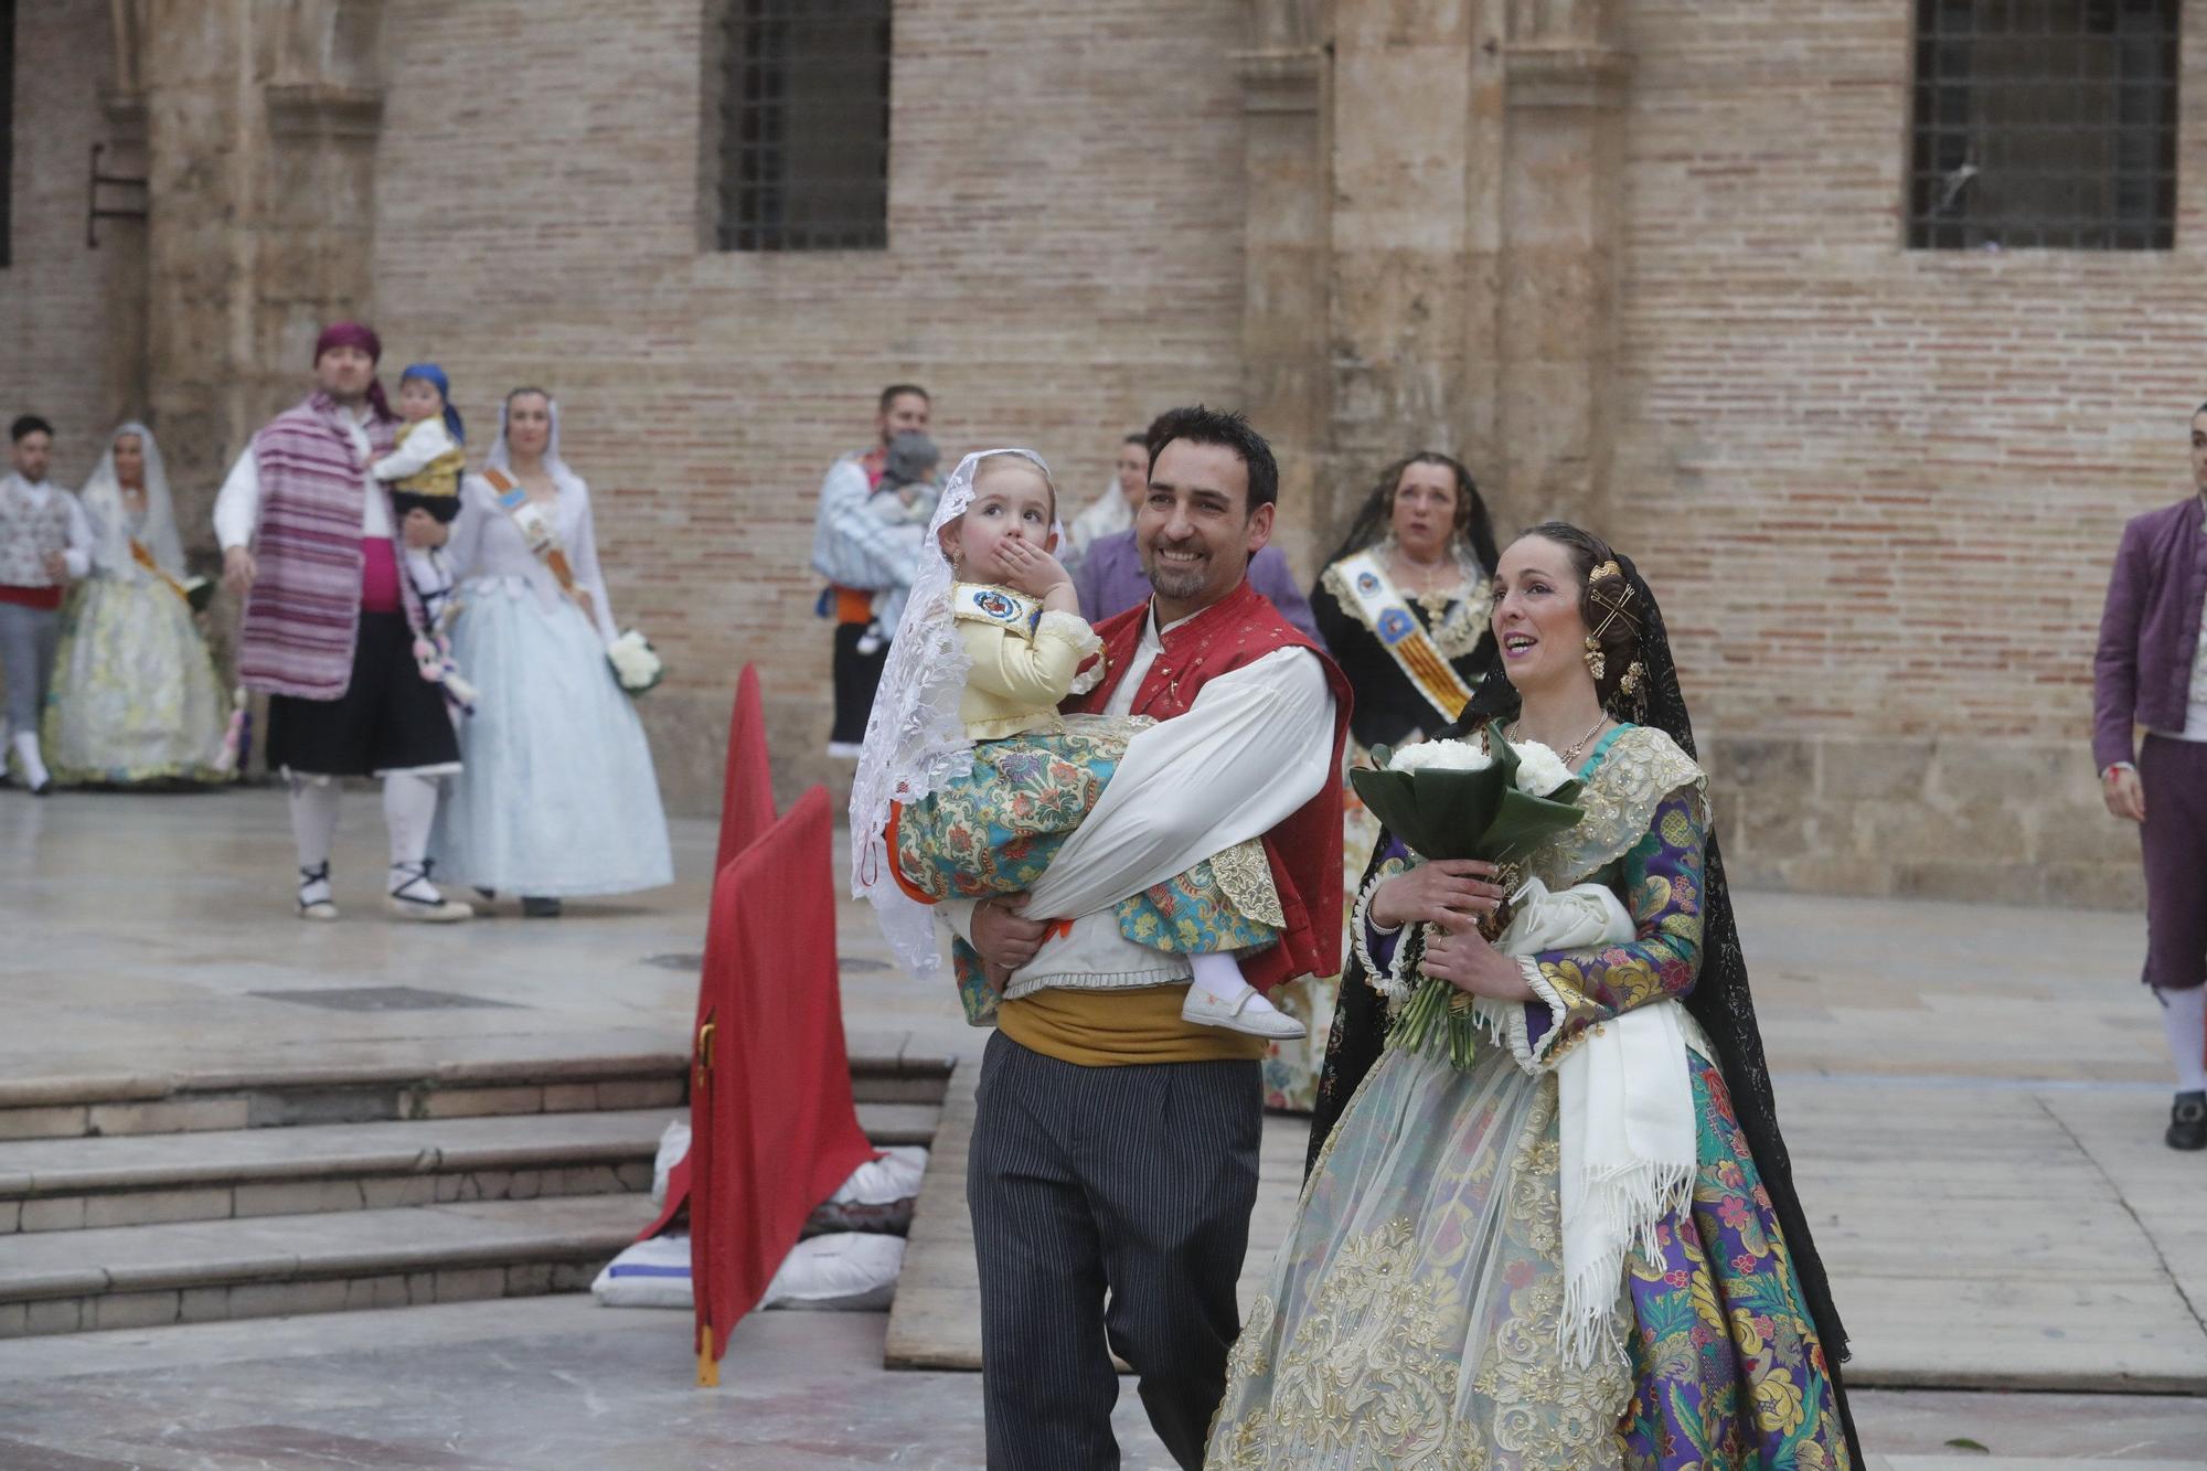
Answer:
M124 311L108 269L143 239L135 221L104 221L102 250L84 245L90 152L110 137L99 113L108 27L104 13L86 24L88 11L68 0L15 4L11 265L0 269L0 428L18 413L51 420L53 475L66 486L90 475L99 437L132 409L108 391L108 340Z

